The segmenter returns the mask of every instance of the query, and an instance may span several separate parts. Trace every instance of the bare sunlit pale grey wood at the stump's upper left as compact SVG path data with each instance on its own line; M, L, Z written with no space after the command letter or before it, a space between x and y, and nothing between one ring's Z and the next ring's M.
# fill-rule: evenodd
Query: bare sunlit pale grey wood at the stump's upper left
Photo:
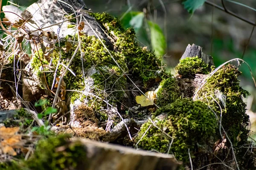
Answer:
M38 0L29 6L27 10L32 14L32 20L35 21L35 24L26 23L32 34L38 34L42 28L43 31L54 31L60 39L68 34L71 35L72 32L75 34L76 28L68 28L70 22L66 22L67 18L65 17L73 14L73 17L77 17L77 23L75 24L79 24L80 20L86 19L90 26L96 30L99 37L109 42L96 20L87 12L84 12L86 6L82 0ZM75 12L76 15L74 14ZM95 36L90 26L85 22L83 32L87 35Z

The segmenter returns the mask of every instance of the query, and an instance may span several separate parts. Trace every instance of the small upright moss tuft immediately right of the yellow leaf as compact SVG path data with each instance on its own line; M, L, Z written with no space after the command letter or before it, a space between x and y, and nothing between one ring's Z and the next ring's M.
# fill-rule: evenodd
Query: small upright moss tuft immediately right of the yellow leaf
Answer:
M157 91L157 106L162 107L170 104L179 98L179 96L177 80L172 77L164 79L160 83L159 90Z

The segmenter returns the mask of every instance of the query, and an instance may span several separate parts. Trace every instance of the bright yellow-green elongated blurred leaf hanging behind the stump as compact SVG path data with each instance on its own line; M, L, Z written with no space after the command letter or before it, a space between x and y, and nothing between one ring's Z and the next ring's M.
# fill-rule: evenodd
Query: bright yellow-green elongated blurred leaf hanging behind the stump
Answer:
M163 56L166 51L166 40L162 29L152 21L148 21L152 48L157 56Z

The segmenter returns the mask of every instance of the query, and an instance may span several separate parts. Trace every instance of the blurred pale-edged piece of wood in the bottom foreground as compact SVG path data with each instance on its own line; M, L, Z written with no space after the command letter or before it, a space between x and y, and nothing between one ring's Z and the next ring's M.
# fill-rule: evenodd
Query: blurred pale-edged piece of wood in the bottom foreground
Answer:
M87 139L78 140L87 152L89 170L176 170L181 164L173 155L135 150Z

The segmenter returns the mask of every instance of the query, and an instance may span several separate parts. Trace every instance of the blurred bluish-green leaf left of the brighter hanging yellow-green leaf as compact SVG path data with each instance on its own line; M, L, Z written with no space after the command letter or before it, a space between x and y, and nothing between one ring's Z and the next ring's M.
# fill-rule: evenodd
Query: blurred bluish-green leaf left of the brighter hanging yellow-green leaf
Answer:
M137 32L143 25L144 13L131 11L122 18L121 23L125 28L133 27Z

